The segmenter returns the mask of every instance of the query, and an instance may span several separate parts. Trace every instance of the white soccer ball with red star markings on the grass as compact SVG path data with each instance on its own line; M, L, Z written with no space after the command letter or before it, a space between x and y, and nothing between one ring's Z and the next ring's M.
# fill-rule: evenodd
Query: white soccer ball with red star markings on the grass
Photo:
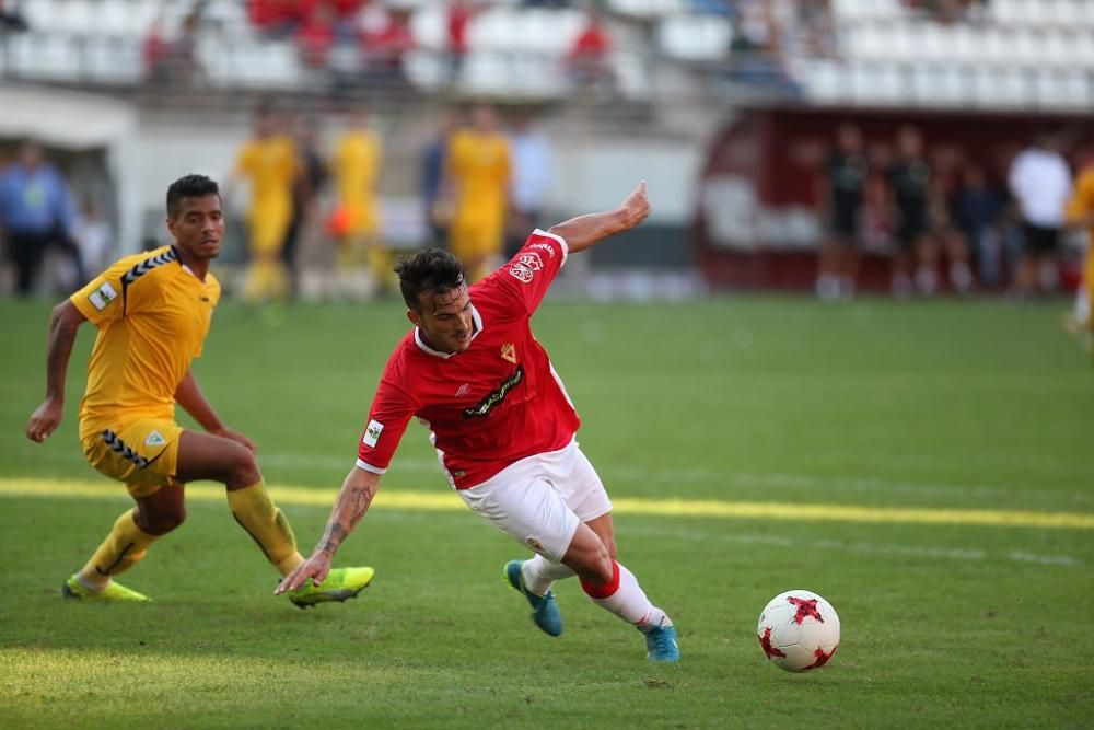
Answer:
M827 664L839 648L839 616L812 591L787 591L764 606L756 638L782 669L807 672Z

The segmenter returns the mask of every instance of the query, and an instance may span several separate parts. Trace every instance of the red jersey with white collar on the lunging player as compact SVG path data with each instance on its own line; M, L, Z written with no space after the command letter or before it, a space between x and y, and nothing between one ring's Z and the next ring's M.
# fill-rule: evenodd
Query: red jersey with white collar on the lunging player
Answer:
M465 351L433 350L417 327L399 341L372 402L359 467L383 474L411 416L430 429L456 489L573 439L581 421L529 325L566 257L566 241L536 230L472 286L475 333Z

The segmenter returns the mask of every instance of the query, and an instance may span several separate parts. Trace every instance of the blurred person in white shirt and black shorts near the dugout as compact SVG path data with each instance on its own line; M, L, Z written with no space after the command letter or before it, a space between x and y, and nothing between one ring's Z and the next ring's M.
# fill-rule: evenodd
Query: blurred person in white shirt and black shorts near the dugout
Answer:
M1052 135L1038 135L1011 163L1008 182L1022 212L1023 252L1016 293L1027 297L1056 288L1056 257L1064 208L1071 197L1071 171Z

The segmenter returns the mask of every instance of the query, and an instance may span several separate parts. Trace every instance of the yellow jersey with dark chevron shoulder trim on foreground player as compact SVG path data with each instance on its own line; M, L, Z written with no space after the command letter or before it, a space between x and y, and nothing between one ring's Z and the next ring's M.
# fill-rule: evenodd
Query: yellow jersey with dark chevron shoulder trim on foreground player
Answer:
M173 420L175 391L201 355L220 282L173 246L127 256L70 298L98 329L80 405L80 438L138 418Z

